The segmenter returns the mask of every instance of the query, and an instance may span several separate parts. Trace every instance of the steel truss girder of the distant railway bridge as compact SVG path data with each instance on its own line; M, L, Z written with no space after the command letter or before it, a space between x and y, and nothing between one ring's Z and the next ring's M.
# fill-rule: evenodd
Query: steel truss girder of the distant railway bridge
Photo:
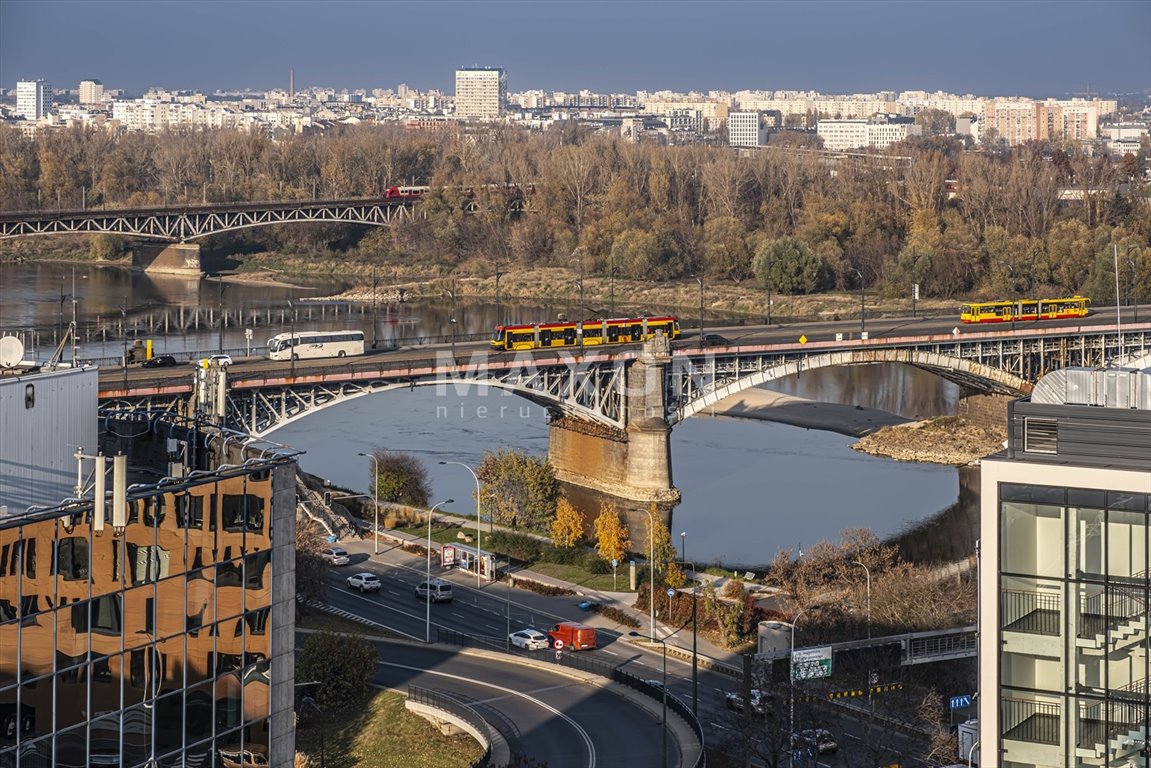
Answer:
M410 216L410 201L396 200L326 200L190 208L26 212L0 215L0 238L109 233L183 242L235 229L292 222L333 221L386 227L398 218Z

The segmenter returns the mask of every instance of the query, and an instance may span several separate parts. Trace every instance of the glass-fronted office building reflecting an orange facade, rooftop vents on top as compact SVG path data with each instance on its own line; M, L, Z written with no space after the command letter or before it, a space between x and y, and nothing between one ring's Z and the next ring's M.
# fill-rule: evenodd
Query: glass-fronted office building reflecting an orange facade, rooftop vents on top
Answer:
M0 378L0 440L53 457L94 375ZM90 408L78 493L0 515L0 766L291 766L294 453Z

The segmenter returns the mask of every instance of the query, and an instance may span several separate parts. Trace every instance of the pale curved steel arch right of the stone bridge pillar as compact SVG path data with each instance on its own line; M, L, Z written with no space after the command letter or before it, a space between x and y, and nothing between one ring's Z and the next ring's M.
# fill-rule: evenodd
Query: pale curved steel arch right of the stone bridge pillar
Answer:
M1028 380L1001 368L952 355L916 349L845 350L795 358L746 373L714 371L710 382L707 381L707 371L700 368L685 371L684 374L692 379L692 382L684 383L694 391L685 391L681 395L672 420L683 421L725 397L785 377L798 375L803 371L872 363L904 363L952 381L969 391L1026 395L1031 391L1032 386Z

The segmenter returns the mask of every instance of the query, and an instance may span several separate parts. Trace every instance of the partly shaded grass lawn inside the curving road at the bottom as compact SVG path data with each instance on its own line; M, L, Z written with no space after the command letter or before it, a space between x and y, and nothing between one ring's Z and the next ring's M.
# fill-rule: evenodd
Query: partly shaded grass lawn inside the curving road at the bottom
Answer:
M378 692L367 705L333 715L322 732L319 723L296 730L296 752L308 766L357 768L464 768L482 750L471 736L443 736L428 721L404 709L405 698ZM306 722L306 721L305 721Z

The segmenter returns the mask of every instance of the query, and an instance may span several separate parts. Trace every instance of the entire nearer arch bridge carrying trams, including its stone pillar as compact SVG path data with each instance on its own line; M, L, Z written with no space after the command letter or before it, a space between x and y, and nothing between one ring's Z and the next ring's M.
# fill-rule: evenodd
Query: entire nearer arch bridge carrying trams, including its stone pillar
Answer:
M1151 350L1151 324L1035 327L1015 333L945 333L700 348L662 336L634 347L462 355L436 348L344 360L259 363L123 380L101 377L107 408L198 415L253 436L356 397L417 386L506 389L546 408L549 457L562 480L635 502L677 500L673 425L749 387L838 365L904 363L955 382L1003 413L1045 373L1104 366ZM159 375L159 374L157 374ZM1005 418L1000 416L1000 418Z

